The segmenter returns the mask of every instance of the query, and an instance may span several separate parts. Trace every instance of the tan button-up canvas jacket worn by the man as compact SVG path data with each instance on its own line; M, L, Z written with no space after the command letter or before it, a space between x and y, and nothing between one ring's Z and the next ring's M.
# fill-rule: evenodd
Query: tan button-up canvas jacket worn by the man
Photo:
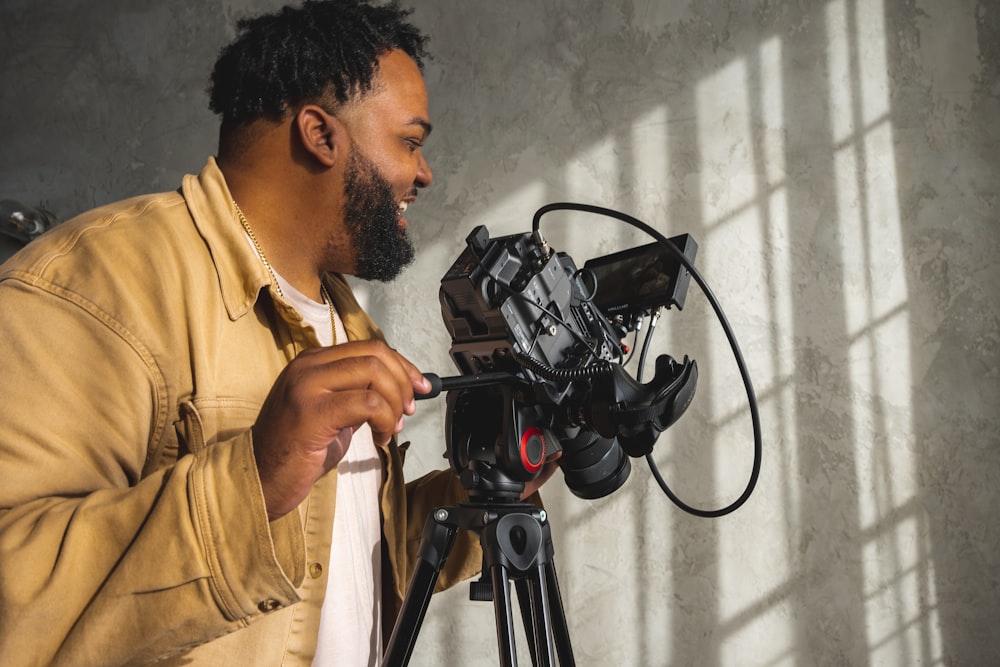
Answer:
M0 268L0 664L310 664L337 479L268 523L249 427L318 344L269 278L212 159ZM381 336L327 284L352 340ZM428 513L465 493L381 455L394 609ZM460 535L439 588L480 565Z

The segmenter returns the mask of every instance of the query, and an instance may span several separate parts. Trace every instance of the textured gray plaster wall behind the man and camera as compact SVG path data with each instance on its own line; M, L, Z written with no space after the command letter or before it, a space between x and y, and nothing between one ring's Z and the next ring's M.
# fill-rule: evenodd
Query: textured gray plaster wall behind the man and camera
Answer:
M175 187L214 150L231 18L278 4L4 0L0 198L65 218ZM998 3L414 4L436 182L417 264L364 288L397 347L449 373L436 290L466 233L581 201L697 238L760 399L760 482L725 518L675 508L641 461L601 500L547 487L578 662L1000 661ZM578 261L645 242L593 216L543 230ZM655 457L722 506L751 463L732 354L694 287L660 329L702 382ZM410 421L414 474L443 465L443 409ZM432 601L415 664L496 664L466 592Z

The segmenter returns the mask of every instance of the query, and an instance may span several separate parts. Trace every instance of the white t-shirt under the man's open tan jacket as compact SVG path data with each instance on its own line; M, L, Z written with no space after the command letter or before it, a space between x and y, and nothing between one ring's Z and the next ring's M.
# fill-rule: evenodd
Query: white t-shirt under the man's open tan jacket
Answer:
M275 276L281 291L323 345L347 341L330 307L317 303ZM367 424L351 437L337 466L337 509L333 520L326 597L320 616L315 667L377 667L382 657L382 523L379 489L382 463Z

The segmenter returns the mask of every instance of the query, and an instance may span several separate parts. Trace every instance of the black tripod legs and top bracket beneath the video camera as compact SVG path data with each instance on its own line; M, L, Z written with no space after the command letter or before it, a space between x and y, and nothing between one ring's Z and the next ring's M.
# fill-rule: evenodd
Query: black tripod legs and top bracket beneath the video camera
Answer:
M554 646L560 665L574 665L547 516L545 510L520 502L450 505L427 518L384 664L403 667L409 662L434 585L459 529L477 533L483 548L482 579L471 584L470 598L493 600L500 664L517 664L509 586L513 581L532 664L552 665Z

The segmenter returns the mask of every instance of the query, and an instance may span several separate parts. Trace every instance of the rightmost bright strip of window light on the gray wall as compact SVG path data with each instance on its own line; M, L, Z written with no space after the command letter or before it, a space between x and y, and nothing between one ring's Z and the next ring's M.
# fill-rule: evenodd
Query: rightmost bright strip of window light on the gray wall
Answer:
M939 664L928 527L918 497L903 270L881 3L830 2L830 105L860 492L864 618L873 664ZM856 85L843 85L856 81ZM875 397L878 397L877 400Z

